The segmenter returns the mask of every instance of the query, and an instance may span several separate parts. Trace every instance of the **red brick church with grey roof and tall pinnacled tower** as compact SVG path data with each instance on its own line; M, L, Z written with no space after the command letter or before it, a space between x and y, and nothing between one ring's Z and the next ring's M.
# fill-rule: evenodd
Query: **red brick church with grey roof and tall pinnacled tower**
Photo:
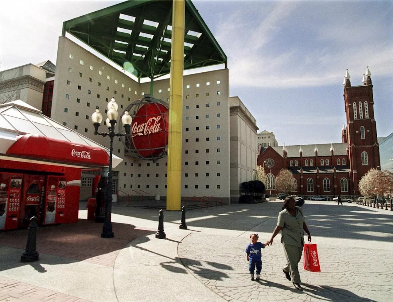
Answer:
M360 86L351 86L348 70L344 86L347 126L342 143L259 147L257 164L264 166L265 186L272 194L281 169L293 176L292 194L358 196L359 180L371 168L380 166L374 119L373 85L367 67Z

